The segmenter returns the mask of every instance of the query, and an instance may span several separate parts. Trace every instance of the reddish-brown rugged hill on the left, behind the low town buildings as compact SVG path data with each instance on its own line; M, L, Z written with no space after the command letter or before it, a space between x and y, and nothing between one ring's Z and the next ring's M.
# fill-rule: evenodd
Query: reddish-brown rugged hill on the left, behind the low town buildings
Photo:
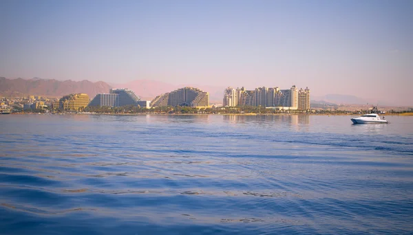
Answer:
M59 81L54 79L23 78L8 79L0 77L0 96L21 97L21 96L65 96L70 93L87 93L90 98L94 98L97 93L109 93L110 87L106 82L90 82L88 80Z

